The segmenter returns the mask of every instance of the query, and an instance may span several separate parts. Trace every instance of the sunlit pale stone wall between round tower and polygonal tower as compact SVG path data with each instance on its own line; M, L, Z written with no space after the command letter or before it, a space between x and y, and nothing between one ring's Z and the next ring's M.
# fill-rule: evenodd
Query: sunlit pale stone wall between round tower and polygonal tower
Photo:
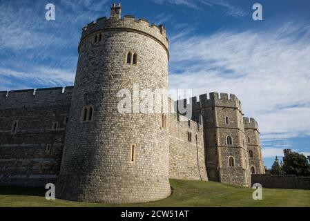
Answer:
M168 115L168 130L169 177L208 180L202 126L182 115L171 113ZM188 141L188 132L191 133L191 142Z

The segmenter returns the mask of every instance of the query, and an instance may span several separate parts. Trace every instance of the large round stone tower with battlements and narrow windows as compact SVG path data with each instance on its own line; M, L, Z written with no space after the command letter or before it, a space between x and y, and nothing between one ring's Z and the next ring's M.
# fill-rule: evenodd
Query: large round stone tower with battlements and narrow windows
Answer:
M58 198L127 203L171 194L162 114L135 113L135 104L119 113L122 89L141 102L133 88L168 88L166 30L144 19L121 19L120 4L113 4L110 18L82 32Z

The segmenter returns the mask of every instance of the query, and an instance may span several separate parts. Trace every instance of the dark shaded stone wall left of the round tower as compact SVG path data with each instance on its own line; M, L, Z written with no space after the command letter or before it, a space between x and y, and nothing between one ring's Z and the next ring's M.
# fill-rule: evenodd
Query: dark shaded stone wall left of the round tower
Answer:
M0 92L1 185L44 186L56 182L72 87L64 93L62 90ZM54 122L57 128L52 128Z

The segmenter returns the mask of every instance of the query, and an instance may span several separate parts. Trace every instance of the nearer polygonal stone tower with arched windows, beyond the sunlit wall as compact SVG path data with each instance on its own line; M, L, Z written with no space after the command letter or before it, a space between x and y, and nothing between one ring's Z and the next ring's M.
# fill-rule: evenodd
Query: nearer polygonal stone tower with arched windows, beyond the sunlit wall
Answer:
M209 93L190 98L193 119L203 116L209 180L251 185L240 100L233 94ZM187 100L178 101L186 106Z

